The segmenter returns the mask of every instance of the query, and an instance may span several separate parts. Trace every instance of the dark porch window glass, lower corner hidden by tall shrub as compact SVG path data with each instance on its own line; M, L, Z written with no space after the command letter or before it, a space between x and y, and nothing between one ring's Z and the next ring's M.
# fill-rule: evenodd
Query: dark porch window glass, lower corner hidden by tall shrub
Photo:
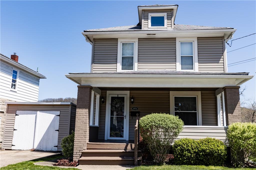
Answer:
M183 120L184 125L197 125L197 98L175 96L174 113Z

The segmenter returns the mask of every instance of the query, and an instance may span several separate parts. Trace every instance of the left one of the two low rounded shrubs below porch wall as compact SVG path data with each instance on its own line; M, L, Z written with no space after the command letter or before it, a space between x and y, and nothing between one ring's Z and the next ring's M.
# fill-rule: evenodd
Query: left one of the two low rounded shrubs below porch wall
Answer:
M196 165L197 141L189 138L176 140L173 144L174 162L177 165Z

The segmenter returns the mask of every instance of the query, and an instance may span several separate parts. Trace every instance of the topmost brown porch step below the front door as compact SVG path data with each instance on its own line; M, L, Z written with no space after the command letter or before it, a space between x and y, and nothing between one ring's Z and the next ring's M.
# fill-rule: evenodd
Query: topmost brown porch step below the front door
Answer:
M134 149L133 143L100 143L87 142L87 149Z

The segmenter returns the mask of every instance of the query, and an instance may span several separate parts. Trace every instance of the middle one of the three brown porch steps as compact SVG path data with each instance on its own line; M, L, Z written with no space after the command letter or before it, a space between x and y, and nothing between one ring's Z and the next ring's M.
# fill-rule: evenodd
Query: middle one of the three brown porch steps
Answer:
M82 151L82 157L90 156L110 156L110 157L133 157L134 150L125 149L87 149ZM138 157L141 156L141 151L138 151Z

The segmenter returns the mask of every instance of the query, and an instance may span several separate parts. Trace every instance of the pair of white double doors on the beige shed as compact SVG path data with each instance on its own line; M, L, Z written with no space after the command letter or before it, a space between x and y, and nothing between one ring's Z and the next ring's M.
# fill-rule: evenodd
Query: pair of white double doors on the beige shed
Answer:
M59 111L17 111L14 150L57 151Z

